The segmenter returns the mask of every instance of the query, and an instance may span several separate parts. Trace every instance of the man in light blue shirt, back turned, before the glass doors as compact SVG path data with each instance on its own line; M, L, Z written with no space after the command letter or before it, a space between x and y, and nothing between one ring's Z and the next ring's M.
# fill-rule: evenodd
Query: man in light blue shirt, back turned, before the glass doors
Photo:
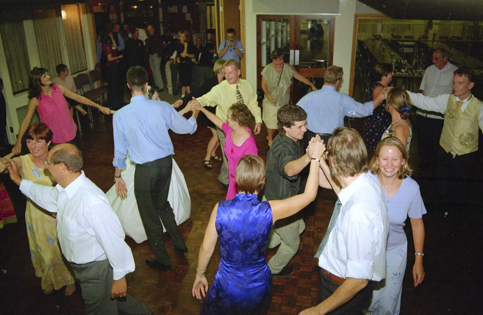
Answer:
M318 133L327 143L335 128L344 126L344 117L365 117L372 115L375 106L384 100L381 93L372 102L364 104L355 101L350 96L337 92L342 78L342 68L330 66L324 74L324 86L318 91L313 91L298 101L297 105L307 113L307 132L304 135L304 148L310 139ZM378 101L378 99L381 101Z

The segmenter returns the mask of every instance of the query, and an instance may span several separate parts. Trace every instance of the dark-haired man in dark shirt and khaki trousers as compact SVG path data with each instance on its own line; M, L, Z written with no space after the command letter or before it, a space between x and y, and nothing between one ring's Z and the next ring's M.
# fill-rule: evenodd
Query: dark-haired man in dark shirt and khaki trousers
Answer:
M307 131L306 119L305 111L296 105L284 105L278 110L279 134L267 154L267 179L263 200L281 200L298 194L298 174L310 162L308 154L300 157L300 140ZM305 223L297 215L279 220L274 225L269 247L280 244L277 253L268 262L274 278L286 277L294 272L294 268L287 264L297 253L299 234L304 229Z

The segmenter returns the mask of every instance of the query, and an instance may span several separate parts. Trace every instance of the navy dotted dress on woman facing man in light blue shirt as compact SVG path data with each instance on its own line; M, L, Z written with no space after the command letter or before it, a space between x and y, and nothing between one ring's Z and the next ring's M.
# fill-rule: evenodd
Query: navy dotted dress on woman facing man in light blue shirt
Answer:
M374 82L369 88L369 101L372 100L372 92L376 86L383 86L379 82ZM384 87L384 86L383 86ZM375 151L377 144L387 126L391 125L391 114L386 112L386 100L374 109L372 115L366 117L364 123L364 134L366 135L366 147L369 151Z

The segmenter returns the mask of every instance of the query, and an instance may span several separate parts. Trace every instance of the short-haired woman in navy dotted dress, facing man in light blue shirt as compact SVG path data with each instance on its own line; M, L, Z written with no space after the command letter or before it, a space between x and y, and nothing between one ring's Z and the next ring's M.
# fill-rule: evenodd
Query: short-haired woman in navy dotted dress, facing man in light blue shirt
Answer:
M375 100L383 92L384 87L389 86L394 72L390 63L380 63L374 67L374 81L369 88L369 101ZM375 151L381 141L385 129L391 124L391 114L386 112L386 101L377 106L372 115L366 117L364 133L366 135L366 147L368 151ZM379 105L379 104L374 104Z

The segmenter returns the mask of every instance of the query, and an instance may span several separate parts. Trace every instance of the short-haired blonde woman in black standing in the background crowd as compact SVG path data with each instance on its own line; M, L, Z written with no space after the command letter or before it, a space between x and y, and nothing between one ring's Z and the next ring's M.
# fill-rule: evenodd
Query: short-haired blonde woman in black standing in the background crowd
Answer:
M176 43L177 58L180 64L181 97L190 93L191 85L191 59L195 58L195 46L186 41L186 31L178 32L179 42Z

